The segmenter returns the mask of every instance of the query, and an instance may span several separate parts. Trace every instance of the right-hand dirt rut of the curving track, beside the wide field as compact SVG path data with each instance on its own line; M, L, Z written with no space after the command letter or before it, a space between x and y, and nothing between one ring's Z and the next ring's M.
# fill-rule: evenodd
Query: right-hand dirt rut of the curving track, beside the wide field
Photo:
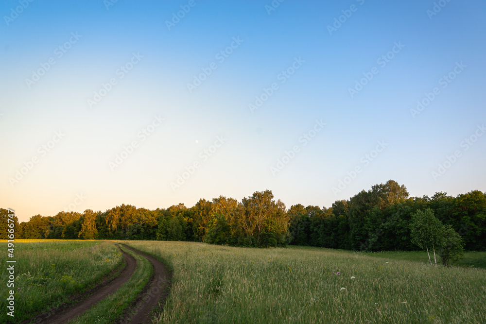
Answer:
M128 315L120 322L122 324L149 324L152 323L154 314L153 310L157 310L160 305L164 305L167 296L169 295L171 275L165 269L162 262L153 256L144 254L134 248L122 244L128 250L147 258L154 267L154 275L150 284L146 286L146 290L142 292L138 302L128 311Z

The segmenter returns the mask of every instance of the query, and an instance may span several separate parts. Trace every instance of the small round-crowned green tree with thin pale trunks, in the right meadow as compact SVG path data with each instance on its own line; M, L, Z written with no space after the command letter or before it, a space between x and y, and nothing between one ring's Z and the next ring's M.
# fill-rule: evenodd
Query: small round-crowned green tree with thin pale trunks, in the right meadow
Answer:
M429 256L431 265L432 261L430 259L429 247L432 247L432 250L434 251L434 263L435 266L437 266L435 247L440 245L443 232L444 226L434 216L434 211L432 209L427 208L425 211L419 209L412 215L412 223L410 224L412 243L422 249L427 249L427 255Z

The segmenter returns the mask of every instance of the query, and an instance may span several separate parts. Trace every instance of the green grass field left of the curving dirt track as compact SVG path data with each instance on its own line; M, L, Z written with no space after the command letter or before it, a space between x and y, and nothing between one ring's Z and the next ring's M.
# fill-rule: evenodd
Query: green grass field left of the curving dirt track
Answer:
M6 288L8 272L2 265L0 323L20 323L68 302L76 291L92 284L121 264L115 244L82 240L15 240L15 287ZM0 258L7 259L7 243L0 243ZM6 314L8 290L15 290L15 317Z

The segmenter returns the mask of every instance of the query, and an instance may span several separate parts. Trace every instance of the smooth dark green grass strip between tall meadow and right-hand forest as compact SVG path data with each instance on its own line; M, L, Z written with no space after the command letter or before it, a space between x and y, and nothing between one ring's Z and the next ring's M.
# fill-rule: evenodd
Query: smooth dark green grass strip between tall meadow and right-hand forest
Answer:
M359 252L359 254L366 255L366 256L375 256L375 257L382 257L387 259L394 259L394 260L410 260L410 261L417 261L417 262L424 262L429 263L429 256L427 255L426 251L384 251L384 252ZM434 254L431 252L431 260L434 263ZM440 257L436 254L437 264L442 264ZM464 258L454 262L453 265L461 266L461 267L474 267L474 268L482 268L486 269L486 252L465 252Z

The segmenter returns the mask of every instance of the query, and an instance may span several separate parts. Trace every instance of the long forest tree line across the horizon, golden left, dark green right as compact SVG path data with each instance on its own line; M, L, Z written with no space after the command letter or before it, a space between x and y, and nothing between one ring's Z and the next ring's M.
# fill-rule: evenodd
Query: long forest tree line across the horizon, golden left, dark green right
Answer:
M148 210L121 205L104 212L61 211L16 223L23 239L144 239L200 241L233 246L308 245L354 251L411 251L422 248L413 237L413 218L430 210L454 231L465 250L486 250L486 193L457 197L437 192L409 197L405 186L389 180L326 208L297 204L286 209L272 191L257 191L240 202L220 196ZM0 209L0 228L6 209ZM442 227L440 227L442 228ZM3 236L6 231L1 231ZM444 232L445 233L445 232ZM6 234L5 234L6 235ZM0 237L3 239L3 237Z

